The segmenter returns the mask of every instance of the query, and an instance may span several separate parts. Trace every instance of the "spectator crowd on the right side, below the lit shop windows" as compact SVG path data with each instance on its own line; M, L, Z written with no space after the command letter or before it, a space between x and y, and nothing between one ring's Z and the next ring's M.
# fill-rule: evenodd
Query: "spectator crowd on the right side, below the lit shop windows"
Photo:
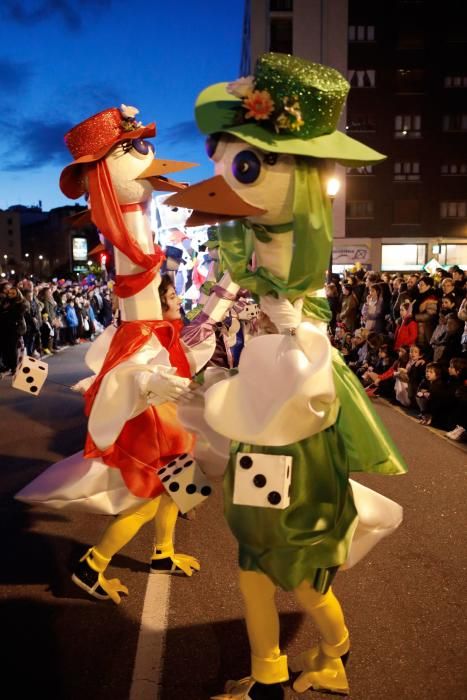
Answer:
M467 288L462 269L346 274L327 285L331 342L371 397L467 441Z

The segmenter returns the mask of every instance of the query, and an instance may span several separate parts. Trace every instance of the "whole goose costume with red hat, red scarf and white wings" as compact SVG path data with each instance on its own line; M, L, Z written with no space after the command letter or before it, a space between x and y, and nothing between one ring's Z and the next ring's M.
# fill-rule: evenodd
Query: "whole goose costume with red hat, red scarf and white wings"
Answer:
M167 477L158 475L192 450L193 435L178 422L174 402L197 366L181 344L182 321L163 320L158 288L164 255L154 245L149 217L153 190L184 187L166 173L194 164L155 158L146 140L155 124L136 122L137 113L125 105L110 108L65 136L74 161L60 187L73 199L89 194L91 219L114 246L121 323L109 326L86 355L95 374L79 387L89 417L84 452L52 465L16 495L53 508L120 514L72 577L93 597L115 603L128 590L104 571L149 520L156 528L151 572L191 576L200 568L193 557L174 552L178 507L164 489Z

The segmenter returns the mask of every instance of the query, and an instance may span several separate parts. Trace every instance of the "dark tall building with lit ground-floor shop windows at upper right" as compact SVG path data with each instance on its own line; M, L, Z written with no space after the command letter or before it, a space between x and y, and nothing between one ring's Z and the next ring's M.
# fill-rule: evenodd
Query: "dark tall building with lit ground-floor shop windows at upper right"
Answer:
M388 271L430 260L467 269L465 3L247 0L242 68L264 51L330 65L351 90L340 124L387 154L338 168L334 269ZM248 48L249 47L249 48Z

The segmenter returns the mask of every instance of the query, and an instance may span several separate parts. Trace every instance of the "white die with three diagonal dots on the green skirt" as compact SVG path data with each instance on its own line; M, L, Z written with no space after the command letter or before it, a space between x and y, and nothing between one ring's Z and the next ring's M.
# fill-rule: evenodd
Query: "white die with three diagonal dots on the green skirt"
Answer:
M291 481L292 457L238 452L233 502L284 510L290 504Z

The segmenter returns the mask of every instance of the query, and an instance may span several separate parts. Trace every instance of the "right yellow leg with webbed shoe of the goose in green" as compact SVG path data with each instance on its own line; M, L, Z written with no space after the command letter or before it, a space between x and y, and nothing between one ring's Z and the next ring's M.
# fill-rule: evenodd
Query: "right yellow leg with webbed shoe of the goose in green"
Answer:
M294 593L322 636L319 646L291 659L290 668L302 671L294 683L294 690L303 693L312 687L347 694L349 685L341 656L349 651L350 642L339 601L331 589L325 594L318 593L306 581Z

